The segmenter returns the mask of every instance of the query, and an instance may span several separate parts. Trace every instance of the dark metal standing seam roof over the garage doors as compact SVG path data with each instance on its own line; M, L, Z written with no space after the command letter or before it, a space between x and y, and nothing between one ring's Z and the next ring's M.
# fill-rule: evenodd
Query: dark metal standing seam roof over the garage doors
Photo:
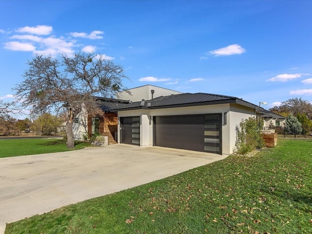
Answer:
M147 101L133 102L114 108L112 111L135 110L135 109L160 109L178 106L212 105L221 103L238 103L254 109L257 107L256 105L250 102L231 96L205 94L205 93L195 93L195 94L184 93L171 96L162 96Z

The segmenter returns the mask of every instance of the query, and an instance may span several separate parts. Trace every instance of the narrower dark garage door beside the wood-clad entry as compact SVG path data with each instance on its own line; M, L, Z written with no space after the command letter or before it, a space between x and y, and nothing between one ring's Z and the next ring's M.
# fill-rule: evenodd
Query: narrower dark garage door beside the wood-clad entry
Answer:
M140 117L120 117L120 143L140 145Z

